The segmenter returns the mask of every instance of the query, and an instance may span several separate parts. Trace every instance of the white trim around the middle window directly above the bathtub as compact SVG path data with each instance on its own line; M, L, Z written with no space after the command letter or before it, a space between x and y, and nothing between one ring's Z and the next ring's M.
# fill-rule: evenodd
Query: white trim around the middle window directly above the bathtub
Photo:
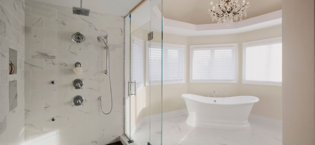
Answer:
M234 47L235 49L235 80L193 80L192 79L192 53L193 48L208 48L208 47ZM190 46L190 69L189 82L190 83L237 83L238 76L238 43L229 44L206 44L206 45L191 45Z

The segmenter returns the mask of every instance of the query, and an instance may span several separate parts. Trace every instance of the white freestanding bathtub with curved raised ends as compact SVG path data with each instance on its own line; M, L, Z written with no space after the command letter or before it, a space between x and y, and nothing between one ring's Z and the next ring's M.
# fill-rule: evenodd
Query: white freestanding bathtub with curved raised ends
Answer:
M259 101L254 96L214 98L182 94L181 97L186 102L188 125L226 130L250 130L248 116Z

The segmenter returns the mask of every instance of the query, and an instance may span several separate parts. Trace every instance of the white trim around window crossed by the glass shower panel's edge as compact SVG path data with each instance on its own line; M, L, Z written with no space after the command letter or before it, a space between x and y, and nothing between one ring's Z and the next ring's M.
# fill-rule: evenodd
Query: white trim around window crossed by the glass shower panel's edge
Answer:
M146 86L162 85L161 81L150 82L149 80L149 44L161 46L159 42L146 41ZM184 50L184 79L176 81L163 81L164 84L186 83L186 45L163 43L163 46L173 47L172 49Z

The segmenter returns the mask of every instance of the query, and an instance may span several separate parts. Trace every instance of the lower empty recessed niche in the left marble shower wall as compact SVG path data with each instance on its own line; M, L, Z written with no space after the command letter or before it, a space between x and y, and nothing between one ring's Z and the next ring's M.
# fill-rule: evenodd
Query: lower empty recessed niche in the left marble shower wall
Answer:
M9 82L9 108L10 111L18 105L17 80Z

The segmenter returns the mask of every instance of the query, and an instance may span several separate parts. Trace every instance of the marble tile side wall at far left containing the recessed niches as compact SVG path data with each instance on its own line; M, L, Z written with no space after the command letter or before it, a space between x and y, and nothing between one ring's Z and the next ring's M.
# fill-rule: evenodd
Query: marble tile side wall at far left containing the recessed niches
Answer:
M24 0L0 0L1 145L24 144L24 10ZM10 75L9 57L16 68Z

